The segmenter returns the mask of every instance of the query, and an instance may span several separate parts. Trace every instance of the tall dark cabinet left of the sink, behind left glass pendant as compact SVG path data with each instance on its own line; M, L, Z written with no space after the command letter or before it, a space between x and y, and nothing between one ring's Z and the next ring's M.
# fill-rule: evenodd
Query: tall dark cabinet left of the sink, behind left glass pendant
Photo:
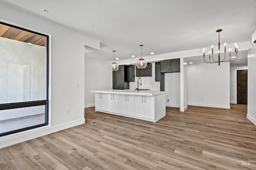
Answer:
M129 82L125 81L127 79L127 67L126 65L119 65L117 71L112 71L113 78L113 89L129 89Z

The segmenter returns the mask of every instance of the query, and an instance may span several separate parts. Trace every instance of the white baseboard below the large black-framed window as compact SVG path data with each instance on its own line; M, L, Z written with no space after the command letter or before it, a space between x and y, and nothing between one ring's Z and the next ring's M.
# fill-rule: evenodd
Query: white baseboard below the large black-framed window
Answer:
M34 129L26 130L23 132L18 132L15 134L2 136L2 137L0 137L0 148L4 148L6 146L10 146L13 144L24 142L26 140L44 136L46 134L64 130L66 128L82 125L84 123L85 123L85 119L80 119L77 121L72 121L72 122L64 123L64 124L57 125L57 126L48 125L46 127L34 128Z

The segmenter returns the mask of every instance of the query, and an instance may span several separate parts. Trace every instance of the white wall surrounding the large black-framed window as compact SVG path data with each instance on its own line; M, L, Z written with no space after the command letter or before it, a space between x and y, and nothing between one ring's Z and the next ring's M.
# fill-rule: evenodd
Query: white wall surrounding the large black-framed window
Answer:
M84 123L84 45L94 40L4 4L0 17L51 35L50 126L2 136L0 148ZM70 114L66 115L66 109Z

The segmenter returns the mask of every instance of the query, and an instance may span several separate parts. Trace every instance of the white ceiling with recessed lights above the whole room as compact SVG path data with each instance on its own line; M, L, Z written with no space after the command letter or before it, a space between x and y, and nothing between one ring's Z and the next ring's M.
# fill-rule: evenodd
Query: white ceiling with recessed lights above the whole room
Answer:
M256 0L0 0L101 42L86 55L112 60L251 41ZM44 12L48 10L48 12Z

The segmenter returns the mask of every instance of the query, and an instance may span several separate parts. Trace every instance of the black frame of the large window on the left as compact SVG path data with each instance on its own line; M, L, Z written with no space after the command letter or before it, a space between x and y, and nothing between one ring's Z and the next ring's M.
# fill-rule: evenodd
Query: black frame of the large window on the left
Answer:
M13 27L13 28L17 28L17 29L20 29L20 30L24 30L24 31L27 31L27 32L30 32L30 33L33 33L33 34L38 34L40 36L46 37L46 100L25 101L25 102L18 102L18 103L0 104L0 110L18 109L18 108L24 108L24 107L33 107L33 106L44 105L45 106L45 123L30 126L30 127L26 127L26 128L20 128L20 129L8 131L8 132L3 132L3 133L0 133L0 137L1 137L1 136L6 136L6 135L9 135L9 134L15 134L15 133L22 132L22 131L25 131L25 130L30 130L30 129L34 129L34 128L38 128L38 127L44 127L44 126L49 125L49 80L50 80L50 75L49 75L49 66L50 66L49 46L50 46L50 43L49 43L49 39L50 39L50 36L46 35L46 34L42 34L40 32L29 30L27 28L22 28L20 26L15 26L13 24L3 22L2 20L0 20L0 24L3 24L3 25L6 25L6 26L10 26L10 27Z

